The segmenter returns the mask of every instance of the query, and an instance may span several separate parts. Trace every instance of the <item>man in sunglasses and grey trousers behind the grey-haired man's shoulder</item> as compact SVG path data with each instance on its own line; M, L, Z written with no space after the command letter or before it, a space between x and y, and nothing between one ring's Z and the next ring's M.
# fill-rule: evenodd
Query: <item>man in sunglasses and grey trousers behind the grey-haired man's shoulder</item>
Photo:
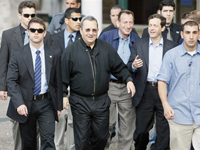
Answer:
M65 11L65 23L65 30L52 35L55 46L62 51L64 51L72 42L81 38L79 32L81 24L80 10L77 8L68 8ZM67 132L66 143L64 143L65 132ZM56 149L64 150L65 144L66 150L75 150L73 120L69 106L64 106L64 110L62 111L59 122L56 123L55 128Z

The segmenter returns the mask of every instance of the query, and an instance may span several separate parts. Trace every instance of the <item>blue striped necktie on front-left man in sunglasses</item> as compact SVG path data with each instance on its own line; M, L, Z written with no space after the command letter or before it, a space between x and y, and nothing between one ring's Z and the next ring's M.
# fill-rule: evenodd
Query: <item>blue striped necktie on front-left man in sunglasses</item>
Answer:
M41 58L40 51L36 51L36 59L35 59L35 88L34 95L38 95L41 92Z

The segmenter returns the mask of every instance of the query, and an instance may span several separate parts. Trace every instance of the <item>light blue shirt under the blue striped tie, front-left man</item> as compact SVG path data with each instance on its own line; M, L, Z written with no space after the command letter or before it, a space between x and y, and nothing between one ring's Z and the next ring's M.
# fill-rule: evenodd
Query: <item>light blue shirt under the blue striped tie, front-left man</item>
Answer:
M37 49L33 47L31 44L30 49L31 49L31 54L32 54L32 59L33 59L33 68L35 70L35 59L36 59L36 51ZM44 53L44 44L38 49L40 50L40 58L41 58L41 92L39 94L44 94L48 90L48 84L47 84L47 79L46 79L46 67L45 67L45 53Z

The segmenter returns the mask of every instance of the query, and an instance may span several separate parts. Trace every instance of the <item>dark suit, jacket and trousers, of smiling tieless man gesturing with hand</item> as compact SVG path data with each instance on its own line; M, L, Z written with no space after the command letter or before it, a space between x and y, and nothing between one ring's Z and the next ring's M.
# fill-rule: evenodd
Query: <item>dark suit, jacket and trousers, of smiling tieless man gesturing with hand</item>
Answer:
M163 55L177 44L163 38ZM153 127L154 112L156 111L157 137L156 150L166 150L169 148L169 127L163 115L163 108L158 96L156 86L147 85L149 68L149 38L136 41L128 62L128 68L132 71L132 63L135 57L143 61L143 66L137 68L135 72L136 93L132 99L133 106L136 107L136 131L134 133L136 150L146 150L149 141L149 130Z

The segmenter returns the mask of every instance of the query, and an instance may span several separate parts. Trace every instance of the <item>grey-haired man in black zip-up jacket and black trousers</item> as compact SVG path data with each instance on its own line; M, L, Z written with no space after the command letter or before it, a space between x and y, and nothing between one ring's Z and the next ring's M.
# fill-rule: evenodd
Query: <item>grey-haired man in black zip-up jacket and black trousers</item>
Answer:
M132 96L135 87L114 48L97 39L98 24L94 17L81 20L80 32L82 39L70 44L62 55L63 96L68 94L70 86L76 149L103 150L109 137L110 73L127 83Z

